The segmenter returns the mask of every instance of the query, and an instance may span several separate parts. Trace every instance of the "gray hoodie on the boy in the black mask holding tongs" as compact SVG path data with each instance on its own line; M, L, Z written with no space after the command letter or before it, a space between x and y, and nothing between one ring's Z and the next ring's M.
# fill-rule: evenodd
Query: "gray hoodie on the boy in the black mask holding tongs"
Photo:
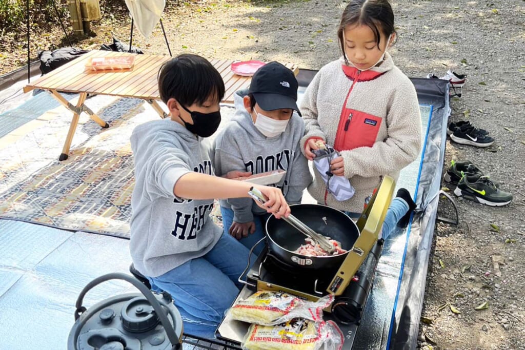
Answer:
M213 248L222 231L209 218L213 200L177 198L178 179L213 175L209 146L170 119L137 126L131 135L135 188L130 252L142 274L158 277Z

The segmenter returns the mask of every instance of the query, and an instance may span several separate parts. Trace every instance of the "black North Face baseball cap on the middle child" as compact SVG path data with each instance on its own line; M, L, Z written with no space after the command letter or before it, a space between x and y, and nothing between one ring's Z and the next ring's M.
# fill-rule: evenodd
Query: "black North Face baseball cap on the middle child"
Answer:
M301 112L297 107L297 89L299 83L291 69L272 61L257 69L251 77L248 93L265 111L291 109ZM302 116L302 115L301 115Z

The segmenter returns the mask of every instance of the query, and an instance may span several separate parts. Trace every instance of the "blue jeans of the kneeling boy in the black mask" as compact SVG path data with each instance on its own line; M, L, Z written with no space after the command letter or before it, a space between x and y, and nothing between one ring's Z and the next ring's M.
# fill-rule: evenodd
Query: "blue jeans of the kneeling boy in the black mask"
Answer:
M237 279L246 268L248 253L235 238L223 234L203 257L148 280L153 291L173 296L185 334L213 339L224 312L243 287ZM250 263L255 259L252 256Z

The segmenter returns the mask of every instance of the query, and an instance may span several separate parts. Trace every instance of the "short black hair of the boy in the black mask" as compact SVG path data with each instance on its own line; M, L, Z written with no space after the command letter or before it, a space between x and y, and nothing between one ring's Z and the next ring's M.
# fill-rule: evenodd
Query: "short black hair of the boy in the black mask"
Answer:
M185 107L203 104L209 97L220 102L224 98L224 81L212 63L205 58L182 54L159 69L159 93L161 100L174 98Z

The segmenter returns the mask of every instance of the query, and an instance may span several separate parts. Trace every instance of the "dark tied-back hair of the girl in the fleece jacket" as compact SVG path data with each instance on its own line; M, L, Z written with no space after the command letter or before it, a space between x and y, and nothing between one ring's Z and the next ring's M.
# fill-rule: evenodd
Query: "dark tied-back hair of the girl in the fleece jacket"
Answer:
M397 34L394 28L394 12L387 0L351 0L343 11L341 23L337 30L339 44L345 60L343 31L346 26L354 25L369 26L374 32L377 48L379 48L381 40L380 30L386 37Z

